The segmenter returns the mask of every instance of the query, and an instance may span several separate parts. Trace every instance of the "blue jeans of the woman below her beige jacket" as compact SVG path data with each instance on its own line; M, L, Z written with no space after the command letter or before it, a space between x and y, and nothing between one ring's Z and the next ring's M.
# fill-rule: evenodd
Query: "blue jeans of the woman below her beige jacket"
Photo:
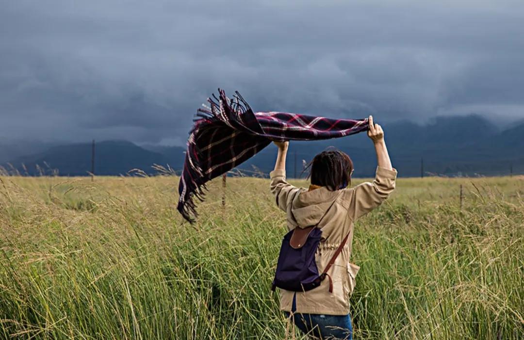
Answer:
M296 295L293 295L291 311L297 310ZM284 312L289 317L289 312ZM294 324L304 333L314 335L321 339L345 339L353 340L353 326L351 316L347 315L325 315L325 314L294 314Z

